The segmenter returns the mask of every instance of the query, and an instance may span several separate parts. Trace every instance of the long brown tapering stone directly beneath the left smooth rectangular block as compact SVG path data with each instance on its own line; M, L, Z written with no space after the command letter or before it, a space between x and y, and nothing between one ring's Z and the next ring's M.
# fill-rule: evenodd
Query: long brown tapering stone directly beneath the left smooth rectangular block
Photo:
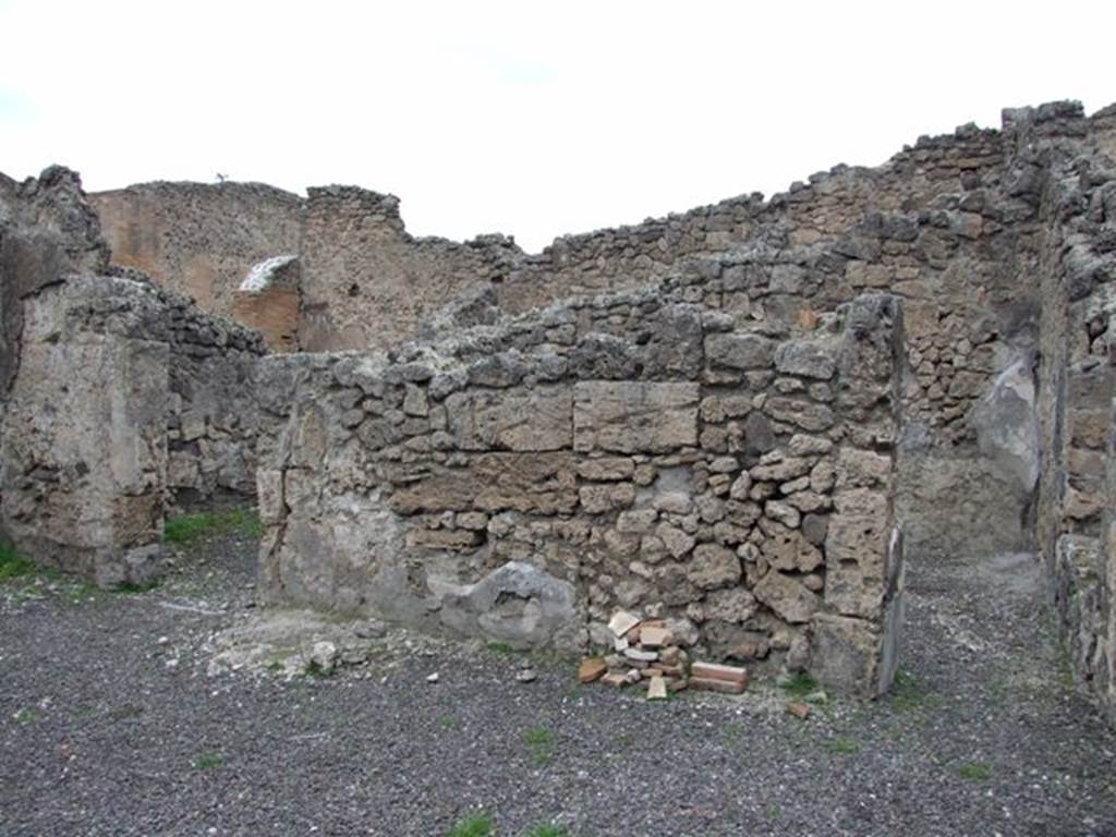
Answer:
M427 477L397 490L392 508L420 511L523 511L568 513L577 506L570 453L488 453L465 468L432 468Z

